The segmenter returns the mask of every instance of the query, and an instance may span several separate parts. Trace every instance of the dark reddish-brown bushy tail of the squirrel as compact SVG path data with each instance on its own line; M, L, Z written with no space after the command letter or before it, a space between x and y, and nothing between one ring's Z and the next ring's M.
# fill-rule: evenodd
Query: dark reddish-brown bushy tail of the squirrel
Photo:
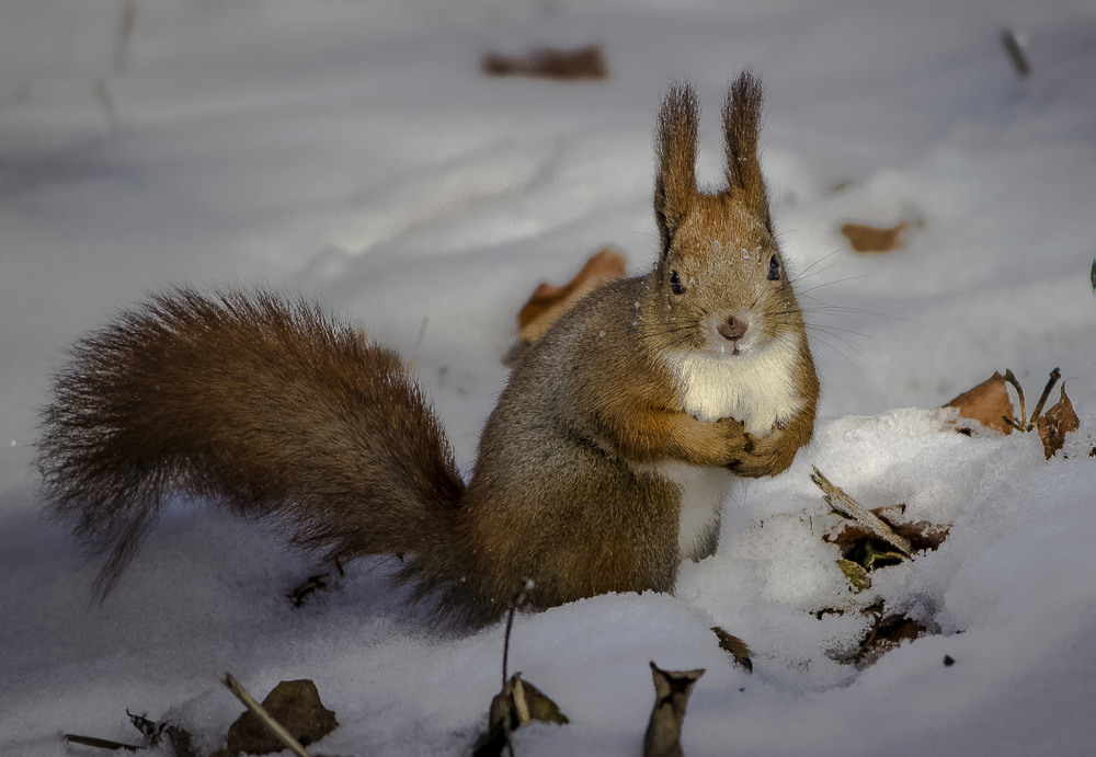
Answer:
M49 513L106 557L100 597L176 492L332 558L414 553L435 577L459 571L449 445L400 359L357 329L265 291L173 289L71 358L38 467Z

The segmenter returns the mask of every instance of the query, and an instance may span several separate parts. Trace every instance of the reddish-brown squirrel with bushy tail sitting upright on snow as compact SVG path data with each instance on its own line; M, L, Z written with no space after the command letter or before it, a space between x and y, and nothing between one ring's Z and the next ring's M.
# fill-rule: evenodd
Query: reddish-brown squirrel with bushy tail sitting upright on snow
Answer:
M156 295L79 341L43 411L50 515L106 558L106 595L176 492L395 575L455 624L608 592L672 592L715 552L728 489L813 433L819 381L757 161L760 81L722 112L728 185L697 188L699 107L658 121L661 252L514 365L466 483L392 352L265 290ZM529 583L532 582L532 583Z

